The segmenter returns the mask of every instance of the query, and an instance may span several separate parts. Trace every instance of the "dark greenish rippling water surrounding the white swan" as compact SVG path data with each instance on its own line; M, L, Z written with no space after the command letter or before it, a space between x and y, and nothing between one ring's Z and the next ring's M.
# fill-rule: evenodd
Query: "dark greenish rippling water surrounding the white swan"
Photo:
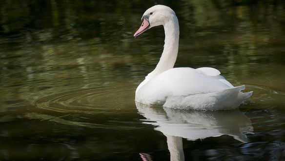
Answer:
M153 1L0 2L0 160L285 160L285 3L158 1L180 21L176 67L219 69L234 111L135 104L163 47L137 38Z

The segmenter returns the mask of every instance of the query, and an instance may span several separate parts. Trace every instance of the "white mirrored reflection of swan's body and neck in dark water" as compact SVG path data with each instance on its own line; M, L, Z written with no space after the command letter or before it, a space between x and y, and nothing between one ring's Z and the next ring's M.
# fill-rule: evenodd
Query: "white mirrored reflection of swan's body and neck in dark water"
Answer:
M184 161L182 138L187 140L232 136L247 142L245 133L253 133L251 121L240 111L186 111L155 108L136 102L139 113L167 138L171 161Z

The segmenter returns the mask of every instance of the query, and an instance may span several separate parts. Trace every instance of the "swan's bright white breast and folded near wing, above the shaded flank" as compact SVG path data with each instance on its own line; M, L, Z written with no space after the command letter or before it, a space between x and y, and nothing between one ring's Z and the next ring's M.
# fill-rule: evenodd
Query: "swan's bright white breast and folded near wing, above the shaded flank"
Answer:
M167 97L213 93L229 88L224 82L193 68L172 68L144 82L136 101L164 103Z

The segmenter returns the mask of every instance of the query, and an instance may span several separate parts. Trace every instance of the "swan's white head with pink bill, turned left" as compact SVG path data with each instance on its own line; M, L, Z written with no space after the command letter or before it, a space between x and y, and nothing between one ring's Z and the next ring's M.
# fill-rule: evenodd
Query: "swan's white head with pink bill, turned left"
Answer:
M154 26L164 25L175 17L175 12L165 5L155 5L147 9L142 15L142 25L134 34L139 36L144 31Z

